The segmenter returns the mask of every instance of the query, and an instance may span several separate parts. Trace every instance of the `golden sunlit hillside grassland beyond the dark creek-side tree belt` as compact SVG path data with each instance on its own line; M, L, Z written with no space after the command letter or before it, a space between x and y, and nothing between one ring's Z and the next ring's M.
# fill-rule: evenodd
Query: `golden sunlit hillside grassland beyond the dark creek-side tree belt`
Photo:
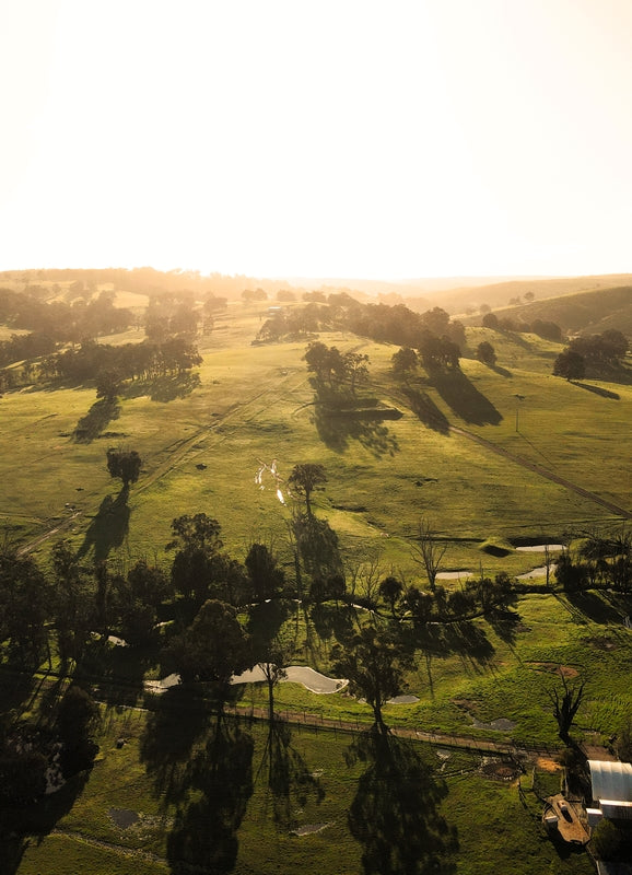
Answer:
M7 394L0 514L8 525L26 540L75 506L80 514L69 529L75 546L100 558L136 558L161 555L175 516L203 511L220 521L232 549L273 536L282 550L290 510L278 502L271 479L262 491L255 485L259 463L276 458L284 477L297 463L318 462L328 482L317 511L338 532L343 553L358 559L377 550L385 567L413 576L409 539L422 515L448 542L446 568L479 571L482 562L487 573L537 564L515 552L503 560L481 553L488 538L557 541L564 532L611 522L611 511L528 464L628 508L632 386L552 377L559 346L471 329L471 348L481 338L496 346L496 368L466 358L460 374L431 377L420 369L406 383L390 372L395 347L323 334L330 346L370 355L371 380L360 398L403 415L349 422L323 416L315 405L302 361L307 341L253 346L260 322L256 307L232 307L201 346L199 385L177 378L130 384L101 436L90 441L78 442L73 432L94 405L93 389ZM419 396L435 419L413 412ZM108 446L134 448L143 458L127 520L114 521L113 530L100 514L116 492L105 469Z

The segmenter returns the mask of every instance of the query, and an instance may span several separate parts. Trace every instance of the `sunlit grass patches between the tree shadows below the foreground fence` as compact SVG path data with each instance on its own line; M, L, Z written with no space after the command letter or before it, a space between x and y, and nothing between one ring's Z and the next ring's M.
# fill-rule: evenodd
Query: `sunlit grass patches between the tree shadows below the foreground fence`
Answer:
M121 725L124 721L125 725ZM43 871L48 875L70 875L80 871L118 875L129 872L130 865L141 875L171 871L161 860L166 855L166 840L175 822L176 805L156 794L155 773L140 761L147 732L144 718L140 715L131 722L127 715L110 721L108 732L100 739L103 751L100 761L72 810L58 822L60 832L44 838L40 844L31 844L19 868L20 875L35 875ZM226 796L227 803L243 802L243 819L235 815L236 820L232 820L238 805L222 808L226 824L238 824L231 844L236 852L231 871L241 875L271 875L315 868L323 873L355 875L362 871L361 854L370 851L370 845L365 844L364 836L354 838L351 833L348 813L354 801L362 801L375 818L366 824L367 839L378 828L377 820L389 825L393 833L390 839L386 833L386 847L407 839L406 833L398 833L405 821L396 819L389 824L390 806L403 806L409 815L407 828L411 830L419 829L426 821L432 822L426 793L430 794L433 786L441 788L443 782L438 773L441 760L434 751L413 746L413 759L420 758L419 761L426 762L435 773L416 784L412 798L400 795L397 784L383 785L376 794L376 785L359 783L366 780L371 763L349 756L353 736L311 731L293 731L291 734L286 749L292 752L294 765L288 774L291 775L293 770L296 774L296 767L302 766L308 774L316 777L323 797L318 802L314 790L307 786L300 791L295 781L290 780L286 817L276 821L273 797L267 785L267 767L262 760L266 736L262 727L256 725L245 732L251 732L255 743L248 761L251 791L246 782L236 798ZM128 738L128 744L117 749L114 742L120 734ZM195 749L200 750L203 740L202 734ZM437 813L456 831L458 851L450 854L455 873L482 875L489 872L490 860L494 861L498 871L511 868L516 875L546 872L552 863L560 866L555 871L563 873L581 875L592 871L585 855L560 858L555 848L542 840L538 822L540 806L528 793L528 777L523 779L527 790L527 804L523 806L516 784L482 777L477 771L480 763L476 755L453 751L443 767L447 775L466 770L466 774L447 777L447 795ZM175 782L179 804L186 812L188 802L200 800L200 796L195 791L191 794L187 781L180 778L176 774ZM220 794L223 792L223 788L219 790ZM110 817L112 808L137 812L141 818L137 825L121 829ZM291 835L292 828L309 824L328 826L312 836L297 838ZM408 838L417 836L411 832ZM136 856L132 864L128 853L134 849L143 855Z

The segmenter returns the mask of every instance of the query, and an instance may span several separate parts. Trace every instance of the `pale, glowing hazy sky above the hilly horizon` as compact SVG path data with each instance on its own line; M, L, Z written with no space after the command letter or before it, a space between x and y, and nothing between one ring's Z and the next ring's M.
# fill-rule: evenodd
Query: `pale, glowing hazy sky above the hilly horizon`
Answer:
M632 0L0 0L0 269L632 271Z

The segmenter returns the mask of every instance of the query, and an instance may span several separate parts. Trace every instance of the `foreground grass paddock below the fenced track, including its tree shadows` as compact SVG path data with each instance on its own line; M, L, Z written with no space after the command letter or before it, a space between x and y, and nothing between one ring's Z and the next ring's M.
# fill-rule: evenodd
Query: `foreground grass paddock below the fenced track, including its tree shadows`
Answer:
M20 875L159 875L179 871L178 854L208 865L209 849L213 871L241 875L358 875L363 861L412 871L408 858L435 854L454 875L483 875L491 860L516 875L593 871L585 853L545 838L530 767L520 800L515 763L475 751L397 739L378 751L364 734L283 725L270 737L231 719L218 730L209 714L189 714L185 728L168 711L106 712L100 744L72 808L49 801L55 832L30 842ZM559 773L536 771L559 786Z

